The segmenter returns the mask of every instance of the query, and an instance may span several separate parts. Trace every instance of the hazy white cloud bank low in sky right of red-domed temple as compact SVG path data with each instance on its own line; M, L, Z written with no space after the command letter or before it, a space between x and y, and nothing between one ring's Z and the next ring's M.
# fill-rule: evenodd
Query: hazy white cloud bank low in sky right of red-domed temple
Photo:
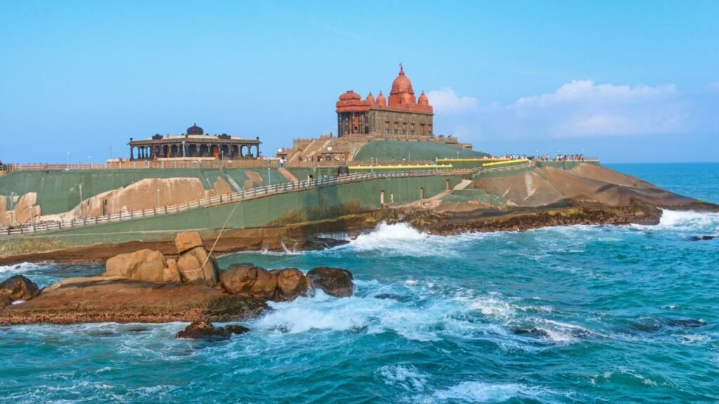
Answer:
M473 132L467 141L692 134L707 132L717 122L708 112L715 102L682 93L673 84L652 87L572 81L551 93L521 97L508 105L479 106L476 98L459 98L451 88L440 93L444 98L436 98L443 104L436 108L435 127L444 134ZM463 98L474 104L462 107L459 100ZM431 99L433 103L436 101Z

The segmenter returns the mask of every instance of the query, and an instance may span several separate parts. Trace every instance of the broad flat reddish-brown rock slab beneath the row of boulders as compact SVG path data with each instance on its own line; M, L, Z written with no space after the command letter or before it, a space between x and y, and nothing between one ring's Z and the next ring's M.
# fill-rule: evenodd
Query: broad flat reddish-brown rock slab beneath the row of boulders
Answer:
M228 295L202 285L106 277L63 282L22 304L1 309L0 324L242 321L268 309L265 300Z

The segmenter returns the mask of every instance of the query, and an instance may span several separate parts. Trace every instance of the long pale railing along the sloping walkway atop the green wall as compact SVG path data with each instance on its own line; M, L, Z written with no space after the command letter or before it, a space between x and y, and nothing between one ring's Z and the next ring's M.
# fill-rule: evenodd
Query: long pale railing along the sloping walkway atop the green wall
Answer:
M248 199L262 198L278 193L288 193L296 190L306 190L312 188L321 188L329 185L342 183L353 183L363 180L371 180L376 178L408 178L408 177L427 177L432 175L459 175L467 174L469 170L406 170L393 171L385 173L357 173L344 175L341 177L324 177L316 180L304 180L296 183L280 183L277 185L268 185L264 187L256 187L249 190L242 190L234 193L226 193L211 198L202 198L193 202L179 203L171 206L163 206L157 208L144 209L142 211L129 211L121 214L110 214L104 216L94 216L83 219L71 219L69 221L45 221L39 224L25 224L22 226L11 226L0 228L0 235L14 236L20 234L34 234L39 231L51 231L58 229L73 229L81 226L91 226L96 224L111 223L114 221L124 221L132 219L141 219L151 216L160 216L165 214L175 214L188 209L206 208L210 206L218 206L224 203L234 203Z

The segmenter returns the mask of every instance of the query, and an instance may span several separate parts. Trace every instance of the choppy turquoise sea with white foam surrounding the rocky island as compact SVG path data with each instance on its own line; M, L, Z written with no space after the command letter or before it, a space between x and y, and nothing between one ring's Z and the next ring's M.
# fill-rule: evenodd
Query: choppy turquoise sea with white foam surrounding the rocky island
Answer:
M719 202L719 165L615 165ZM719 401L719 215L434 237L382 225L268 268L344 267L352 298L318 293L231 341L185 323L0 327L7 403L658 403ZM0 267L40 285L99 266ZM390 294L393 299L375 298Z

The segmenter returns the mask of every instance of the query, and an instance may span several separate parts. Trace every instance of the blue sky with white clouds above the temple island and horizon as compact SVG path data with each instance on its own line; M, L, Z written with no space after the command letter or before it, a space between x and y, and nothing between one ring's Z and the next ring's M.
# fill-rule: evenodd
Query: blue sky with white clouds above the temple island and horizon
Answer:
M402 62L475 150L718 161L718 39L719 1L0 0L0 160L127 157L193 122L274 154Z

